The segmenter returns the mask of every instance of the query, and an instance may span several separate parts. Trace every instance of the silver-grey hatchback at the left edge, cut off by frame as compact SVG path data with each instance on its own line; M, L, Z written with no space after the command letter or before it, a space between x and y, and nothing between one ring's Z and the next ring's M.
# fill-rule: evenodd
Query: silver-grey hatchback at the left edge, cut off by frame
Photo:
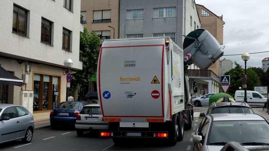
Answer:
M23 106L0 104L0 143L21 139L31 142L35 123L33 115Z

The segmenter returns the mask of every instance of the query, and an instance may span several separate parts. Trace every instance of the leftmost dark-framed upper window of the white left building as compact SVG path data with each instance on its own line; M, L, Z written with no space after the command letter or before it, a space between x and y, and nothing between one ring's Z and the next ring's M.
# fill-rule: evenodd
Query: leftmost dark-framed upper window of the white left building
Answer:
M12 31L17 34L26 36L27 10L13 5L13 24Z

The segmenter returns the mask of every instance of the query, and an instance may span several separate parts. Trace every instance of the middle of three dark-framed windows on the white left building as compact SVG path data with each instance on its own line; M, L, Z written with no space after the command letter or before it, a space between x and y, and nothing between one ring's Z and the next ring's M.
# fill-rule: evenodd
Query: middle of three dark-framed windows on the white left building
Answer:
M51 22L42 18L41 20L41 41L51 44Z

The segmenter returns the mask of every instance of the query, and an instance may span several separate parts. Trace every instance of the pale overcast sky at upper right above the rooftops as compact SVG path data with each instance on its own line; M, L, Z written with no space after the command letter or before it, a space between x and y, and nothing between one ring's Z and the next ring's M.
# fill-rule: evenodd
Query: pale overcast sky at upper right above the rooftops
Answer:
M269 51L269 0L195 0L223 15L224 55ZM251 54L247 66L261 67L269 52ZM244 65L239 56L223 56ZM244 66L243 66L244 67Z

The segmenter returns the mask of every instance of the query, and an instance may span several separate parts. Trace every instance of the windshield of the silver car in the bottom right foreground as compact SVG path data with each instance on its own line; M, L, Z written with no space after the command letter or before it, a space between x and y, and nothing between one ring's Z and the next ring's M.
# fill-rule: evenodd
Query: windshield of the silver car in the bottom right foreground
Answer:
M242 145L269 144L268 132L269 124L265 120L214 121L208 145L230 141Z

